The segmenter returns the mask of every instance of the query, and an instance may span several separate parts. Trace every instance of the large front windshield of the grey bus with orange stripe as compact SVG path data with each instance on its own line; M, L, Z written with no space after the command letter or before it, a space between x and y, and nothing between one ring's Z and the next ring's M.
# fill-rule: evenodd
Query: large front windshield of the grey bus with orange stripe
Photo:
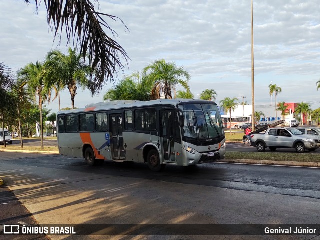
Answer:
M208 139L223 135L223 124L217 105L183 104L178 107L184 114L182 134L185 137Z

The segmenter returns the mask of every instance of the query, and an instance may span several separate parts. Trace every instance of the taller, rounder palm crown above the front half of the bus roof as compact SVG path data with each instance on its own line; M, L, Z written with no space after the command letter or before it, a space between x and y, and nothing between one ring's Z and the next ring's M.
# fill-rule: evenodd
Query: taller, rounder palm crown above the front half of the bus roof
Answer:
M190 74L183 67L176 67L174 62L166 63L164 59L157 60L145 67L143 74L153 84L152 99L159 99L161 92L164 93L165 99L172 98L172 91L175 93L177 85L181 85L187 91L190 91L188 85ZM180 77L184 77L186 80Z

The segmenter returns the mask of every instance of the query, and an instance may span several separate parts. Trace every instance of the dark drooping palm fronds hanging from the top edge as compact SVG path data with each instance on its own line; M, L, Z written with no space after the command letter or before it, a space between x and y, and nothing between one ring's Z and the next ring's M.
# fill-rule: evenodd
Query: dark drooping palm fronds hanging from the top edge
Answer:
M54 37L61 40L62 31L66 32L67 43L73 38L73 44L81 46L80 52L83 62L88 56L91 68L91 76L94 79L90 82L91 92L98 92L108 79L114 81L117 69L124 71L124 65L120 59L129 63L129 57L124 49L112 38L117 34L110 25L103 19L109 17L114 21L120 21L125 29L124 22L113 15L98 12L90 0L42 0L47 10L47 21ZM29 3L30 0L25 0ZM35 0L36 8L40 6L41 0ZM98 5L98 4L97 4ZM107 35L106 29L111 36ZM94 74L93 74L94 73Z

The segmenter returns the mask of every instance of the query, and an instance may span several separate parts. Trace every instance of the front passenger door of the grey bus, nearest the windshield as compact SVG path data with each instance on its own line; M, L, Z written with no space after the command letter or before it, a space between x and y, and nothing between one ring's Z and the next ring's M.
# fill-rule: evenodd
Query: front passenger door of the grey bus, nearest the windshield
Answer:
M161 110L160 117L160 130L162 137L161 151L163 161L175 163L174 131L180 129L176 126L177 116L174 110Z

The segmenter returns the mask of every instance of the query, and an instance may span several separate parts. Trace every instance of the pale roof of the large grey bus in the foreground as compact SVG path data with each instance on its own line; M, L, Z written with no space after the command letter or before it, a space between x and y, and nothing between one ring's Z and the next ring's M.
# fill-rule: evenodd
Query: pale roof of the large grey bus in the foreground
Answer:
M57 114L66 114L66 113L77 113L83 111L93 111L93 110L111 110L119 108L130 108L130 107L143 107L143 106L152 106L152 105L173 105L176 106L179 103L194 103L194 104L215 104L215 102L209 100L199 100L199 99L157 99L151 101L135 101L135 100L117 100L117 101L105 101L98 102L93 104L87 104L84 108L77 108L73 110L63 110L58 111Z

